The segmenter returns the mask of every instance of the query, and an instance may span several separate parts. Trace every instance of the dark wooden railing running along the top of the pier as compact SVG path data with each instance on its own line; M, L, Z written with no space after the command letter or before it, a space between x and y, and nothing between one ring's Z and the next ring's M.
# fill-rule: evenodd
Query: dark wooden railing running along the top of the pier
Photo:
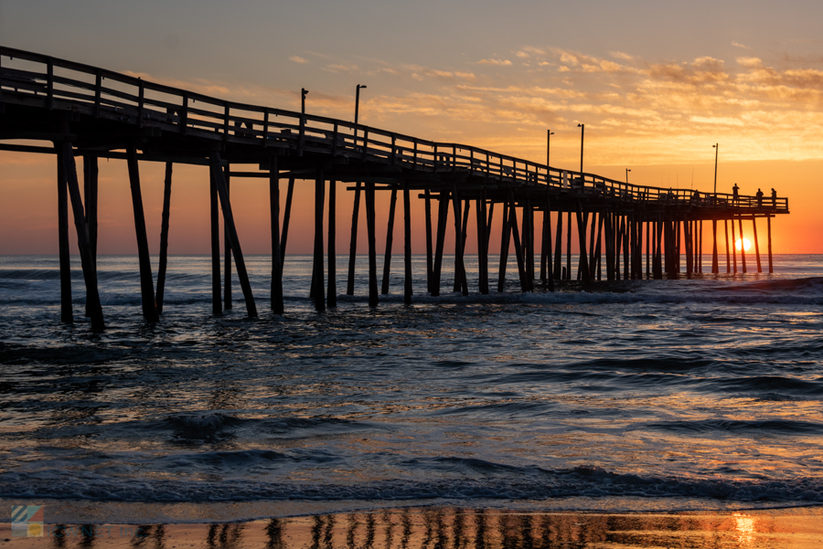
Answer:
M548 185L557 192L661 206L788 211L786 197L758 199L631 185L465 144L433 142L351 121L220 100L111 70L0 47L0 110L4 103L75 111L138 128L261 147L276 154L321 154L335 162L394 164L405 171L444 177L470 174L488 185Z

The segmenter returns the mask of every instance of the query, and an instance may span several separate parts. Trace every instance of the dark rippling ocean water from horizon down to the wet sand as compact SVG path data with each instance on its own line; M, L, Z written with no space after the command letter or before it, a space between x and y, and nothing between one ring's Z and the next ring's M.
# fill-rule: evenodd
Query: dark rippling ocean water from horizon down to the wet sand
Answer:
M102 523L131 503L223 502L219 520L242 521L407 502L823 502L823 256L775 256L774 275L534 293L512 260L506 291L487 296L467 257L467 297L450 260L432 298L414 256L407 306L395 259L370 309L360 257L356 295L318 313L311 257L288 256L278 316L269 259L251 256L249 319L236 278L214 317L210 259L175 256L148 324L136 257L101 256L107 330L93 333L77 257L74 325L59 322L56 256L0 257L0 498L89 502Z

